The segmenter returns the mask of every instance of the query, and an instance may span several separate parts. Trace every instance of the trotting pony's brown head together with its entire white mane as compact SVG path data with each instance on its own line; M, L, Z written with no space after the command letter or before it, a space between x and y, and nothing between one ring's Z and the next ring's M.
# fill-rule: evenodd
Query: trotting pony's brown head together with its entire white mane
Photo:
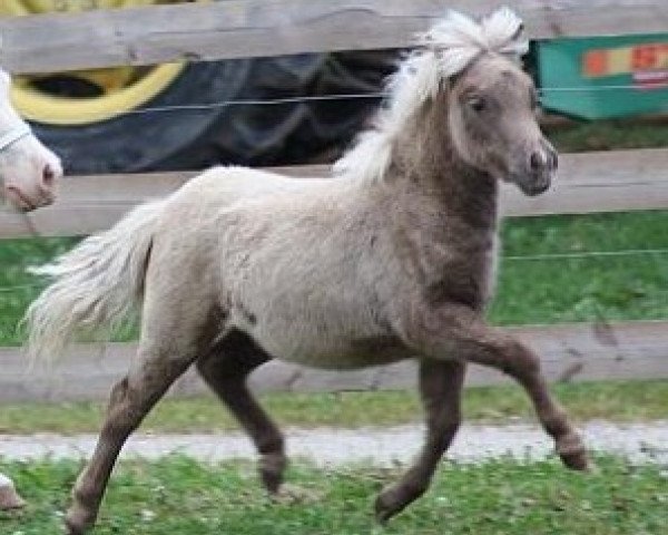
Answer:
M419 50L390 80L389 105L374 128L334 171L382 179L394 147L406 138L415 143L412 129L425 128L430 116L436 137L448 138L449 156L514 183L528 195L544 192L557 153L540 132L536 89L520 67L528 49L521 30L521 20L508 8L480 20L450 11L420 36ZM422 150L418 154L423 158Z

